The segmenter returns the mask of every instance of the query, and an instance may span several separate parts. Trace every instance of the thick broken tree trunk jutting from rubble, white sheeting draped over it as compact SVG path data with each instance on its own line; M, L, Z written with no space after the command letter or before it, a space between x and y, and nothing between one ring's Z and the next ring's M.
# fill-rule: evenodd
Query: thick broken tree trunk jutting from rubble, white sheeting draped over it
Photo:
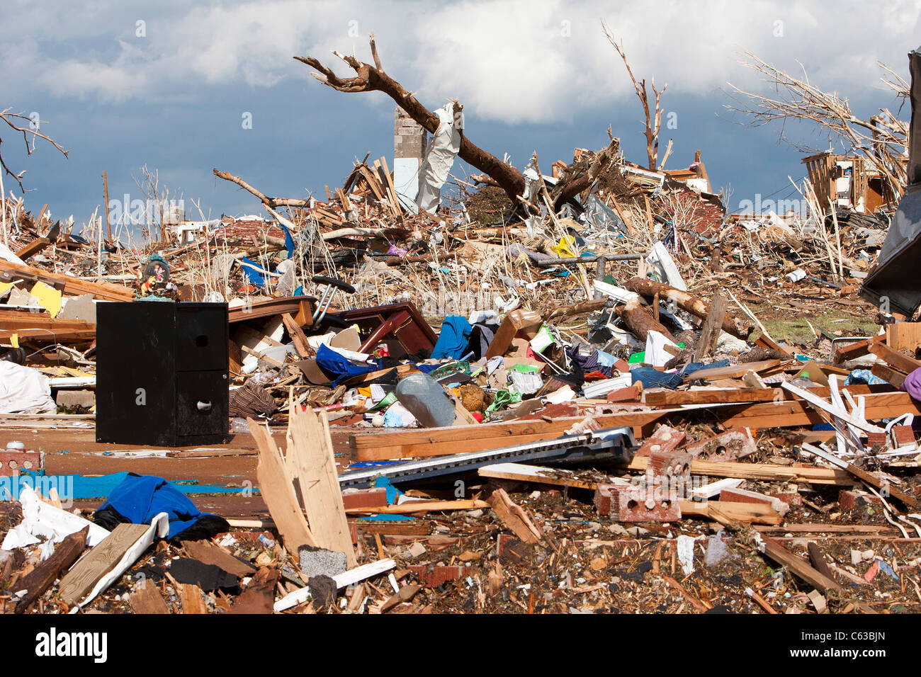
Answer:
M418 99L413 92L407 92L402 85L388 76L380 64L377 45L374 42L374 33L370 35L371 56L374 59L374 65L358 61L355 56L346 56L339 52L333 52L335 56L342 59L345 64L349 65L355 72L355 77L339 77L332 72L332 69L321 64L320 61L312 56L296 56L297 61L309 65L317 73L311 74L320 80L327 87L331 87L341 92L383 92L393 99L403 111L406 111L416 123L421 124L430 134L436 134L438 129L438 116L435 112L429 111ZM460 106L460 104L457 104ZM456 109L457 110L457 109ZM603 151L605 158L612 158L616 151L616 145ZM491 153L485 151L480 146L474 144L461 130L461 149L458 153L460 158L471 164L476 169L480 169L488 174L495 184L502 188L512 204L519 205L519 196L525 191L525 180L521 171L507 162L503 162ZM596 169L595 173L598 173ZM557 185L554 193L554 208L561 207L565 202L573 199L578 193L589 188L593 176L589 172L582 172L574 176L570 181L562 185ZM250 189L247 189L250 190ZM252 193L252 191L251 191ZM255 193L254 193L255 194Z

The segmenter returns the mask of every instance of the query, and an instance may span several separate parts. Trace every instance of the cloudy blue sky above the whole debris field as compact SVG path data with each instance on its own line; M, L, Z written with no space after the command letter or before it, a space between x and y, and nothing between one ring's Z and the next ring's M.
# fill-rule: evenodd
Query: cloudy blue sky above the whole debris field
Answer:
M724 108L727 82L759 88L738 64L751 51L787 70L801 62L810 79L846 96L857 115L897 105L877 62L907 77L906 54L918 44L921 1L837 3L461 2L87 3L7 0L0 24L0 110L38 112L41 132L69 151L39 143L26 158L21 139L0 129L6 164L27 169L27 207L49 204L55 218L82 223L110 197L141 197L140 168L161 185L200 201L205 216L261 213L249 193L217 180L212 168L267 194L325 198L356 158L392 157L393 104L385 95L344 94L309 76L295 54L317 56L340 75L330 53L370 61L374 30L387 72L430 109L447 99L465 105L465 133L519 168L537 151L542 169L570 161L574 147L606 146L606 130L624 155L645 163L642 110L600 19L623 39L634 73L668 83L664 129L670 169L701 149L729 207L793 192L801 154L778 143L779 129L735 124ZM244 113L252 127L244 129ZM902 113L907 118L909 111ZM810 128L793 130L826 146ZM463 168L455 169L463 173ZM7 194L14 187L5 178ZM779 192L777 192L779 189ZM15 191L17 193L17 191ZM264 216L264 213L262 213Z

